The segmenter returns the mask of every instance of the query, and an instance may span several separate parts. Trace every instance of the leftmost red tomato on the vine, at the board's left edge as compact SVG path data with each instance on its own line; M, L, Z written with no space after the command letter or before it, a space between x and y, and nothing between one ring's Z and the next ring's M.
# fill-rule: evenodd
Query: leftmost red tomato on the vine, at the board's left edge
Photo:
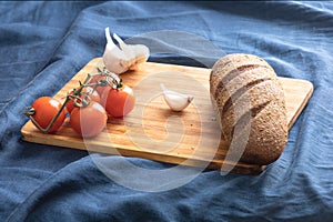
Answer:
M34 113L31 117L41 128L47 129L61 107L62 104L58 100L50 97L41 97L33 102ZM49 132L56 132L63 124L64 119L65 112L62 110ZM33 122L33 124L36 123Z

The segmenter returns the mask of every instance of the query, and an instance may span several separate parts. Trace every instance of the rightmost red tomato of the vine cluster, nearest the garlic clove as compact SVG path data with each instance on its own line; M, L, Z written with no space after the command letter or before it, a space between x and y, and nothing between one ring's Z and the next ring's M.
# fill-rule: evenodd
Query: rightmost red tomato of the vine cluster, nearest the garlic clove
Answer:
M110 117L121 118L133 110L135 97L128 85L119 89L107 87L101 95L101 104L105 107Z

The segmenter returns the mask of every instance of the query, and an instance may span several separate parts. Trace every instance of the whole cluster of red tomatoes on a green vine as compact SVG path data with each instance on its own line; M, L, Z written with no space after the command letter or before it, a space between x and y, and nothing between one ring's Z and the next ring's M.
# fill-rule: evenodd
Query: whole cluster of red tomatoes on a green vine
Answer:
M114 73L98 68L88 74L80 87L67 93L64 102L38 98L26 115L43 133L58 131L69 114L71 128L83 138L98 135L107 125L108 118L121 118L135 104L133 90L124 85Z

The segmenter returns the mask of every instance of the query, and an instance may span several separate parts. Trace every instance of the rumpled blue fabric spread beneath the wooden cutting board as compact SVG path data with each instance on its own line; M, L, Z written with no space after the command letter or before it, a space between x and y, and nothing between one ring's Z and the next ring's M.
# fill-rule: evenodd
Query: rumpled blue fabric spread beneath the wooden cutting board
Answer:
M124 39L159 30L193 33L225 53L260 56L279 75L311 81L314 93L283 154L262 174L204 171L170 191L131 190L99 171L85 151L28 143L20 134L26 107L53 95L102 56L105 27ZM0 54L0 221L333 218L331 2L1 2ZM150 61L202 65L172 54L152 54Z

